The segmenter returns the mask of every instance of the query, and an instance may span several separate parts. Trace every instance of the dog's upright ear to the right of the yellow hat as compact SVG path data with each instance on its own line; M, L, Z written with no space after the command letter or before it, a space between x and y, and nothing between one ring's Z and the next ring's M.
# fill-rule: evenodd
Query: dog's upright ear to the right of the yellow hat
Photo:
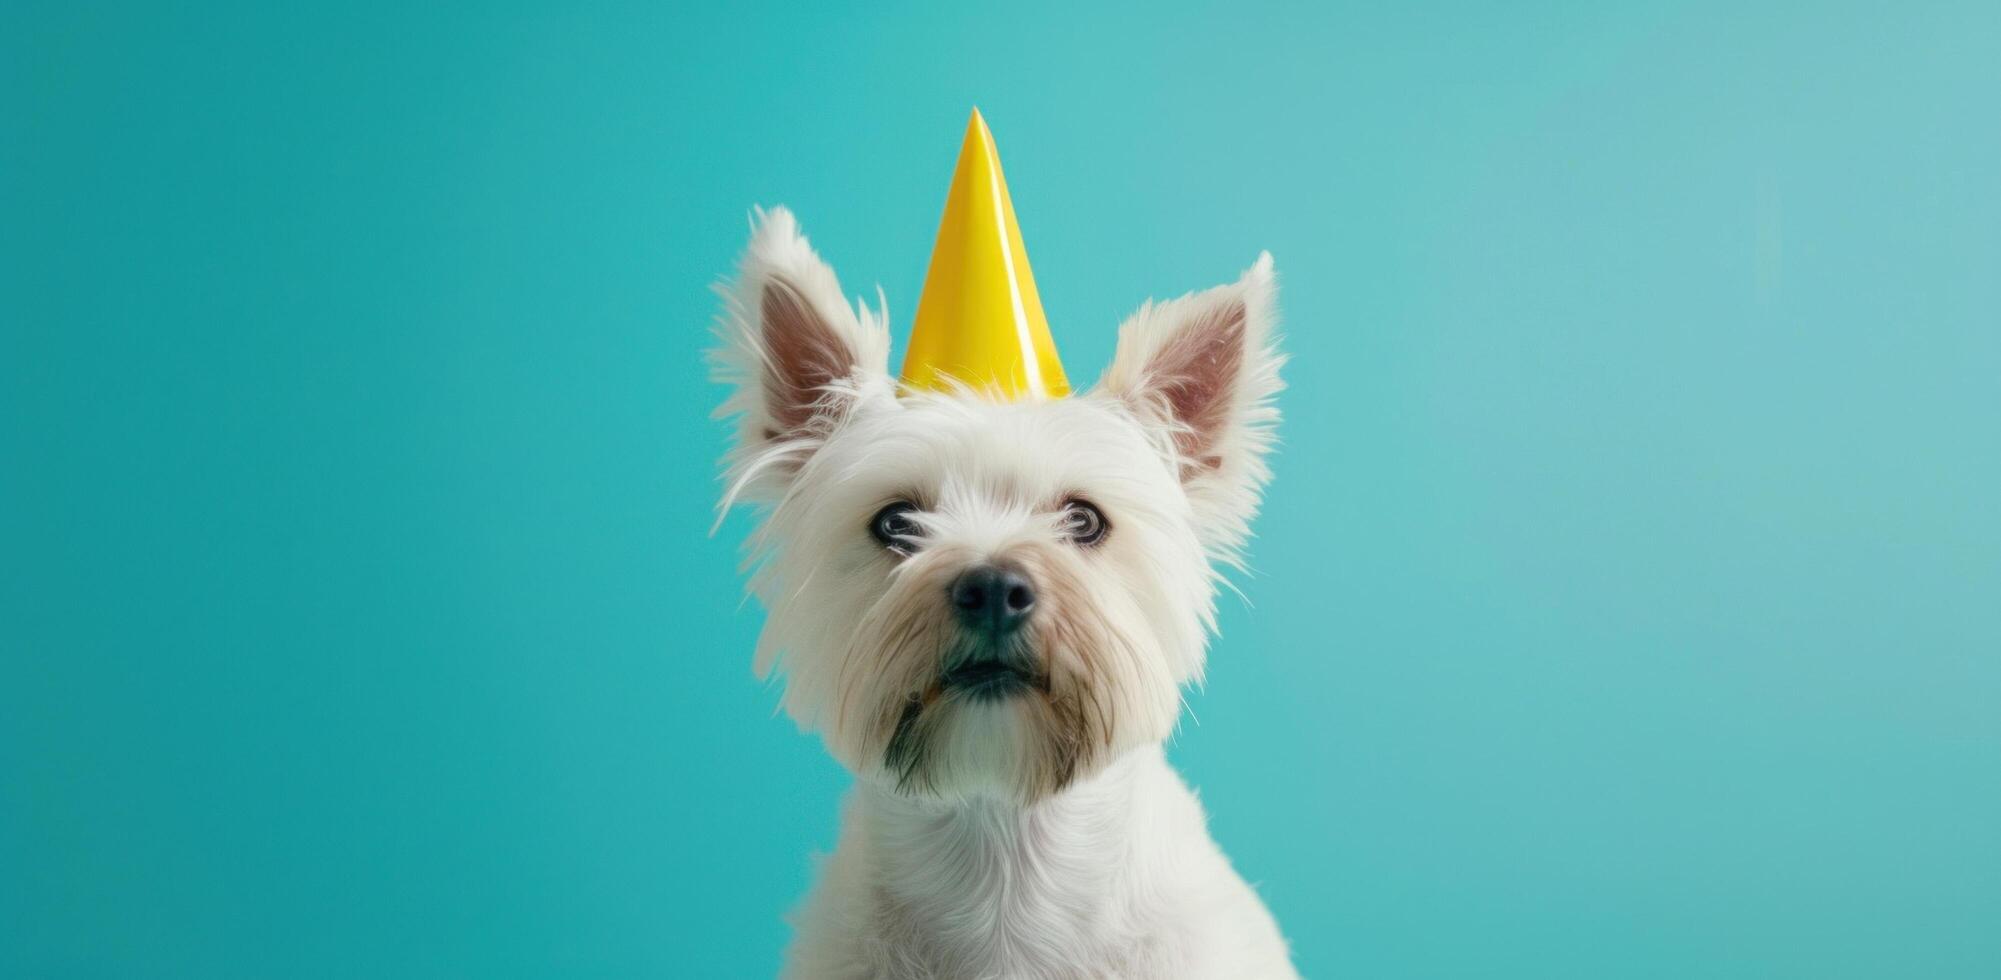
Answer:
M1237 558L1271 476L1285 388L1277 298L1267 252L1229 286L1147 304L1119 328L1119 354L1099 380L1161 436L1203 544L1225 560Z

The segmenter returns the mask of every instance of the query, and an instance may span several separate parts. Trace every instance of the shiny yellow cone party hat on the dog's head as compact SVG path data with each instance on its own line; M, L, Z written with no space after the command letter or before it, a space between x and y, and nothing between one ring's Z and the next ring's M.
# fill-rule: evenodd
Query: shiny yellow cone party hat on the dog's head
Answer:
M1071 394L980 110L966 124L944 196L902 380L932 390L958 380L1000 398Z

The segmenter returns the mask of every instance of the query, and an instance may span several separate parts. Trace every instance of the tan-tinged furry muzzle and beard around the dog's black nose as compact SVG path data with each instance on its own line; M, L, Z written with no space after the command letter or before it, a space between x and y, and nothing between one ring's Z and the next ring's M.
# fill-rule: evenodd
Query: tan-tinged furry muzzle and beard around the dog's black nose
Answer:
M978 648L940 602L964 556L906 560L854 628L834 732L848 758L904 794L1035 802L1145 740L1167 736L1175 680L1121 590L1093 590L1075 556L1013 556L1039 582L1035 620ZM1007 664L966 676L968 664Z

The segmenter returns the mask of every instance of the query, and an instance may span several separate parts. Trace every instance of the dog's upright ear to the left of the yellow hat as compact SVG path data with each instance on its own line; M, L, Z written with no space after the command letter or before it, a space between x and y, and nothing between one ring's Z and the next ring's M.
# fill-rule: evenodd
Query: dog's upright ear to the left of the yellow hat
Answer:
M792 212L754 212L736 278L718 292L710 364L732 392L716 416L738 418L738 464L764 456L796 468L858 400L888 390L882 312L848 308L834 270L798 234Z

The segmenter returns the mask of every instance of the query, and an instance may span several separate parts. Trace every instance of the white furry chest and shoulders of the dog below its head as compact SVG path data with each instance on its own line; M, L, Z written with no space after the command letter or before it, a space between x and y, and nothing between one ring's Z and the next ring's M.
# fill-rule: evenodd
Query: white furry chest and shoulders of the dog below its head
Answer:
M1195 796L1139 750L1033 808L856 790L788 976L1295 974Z

